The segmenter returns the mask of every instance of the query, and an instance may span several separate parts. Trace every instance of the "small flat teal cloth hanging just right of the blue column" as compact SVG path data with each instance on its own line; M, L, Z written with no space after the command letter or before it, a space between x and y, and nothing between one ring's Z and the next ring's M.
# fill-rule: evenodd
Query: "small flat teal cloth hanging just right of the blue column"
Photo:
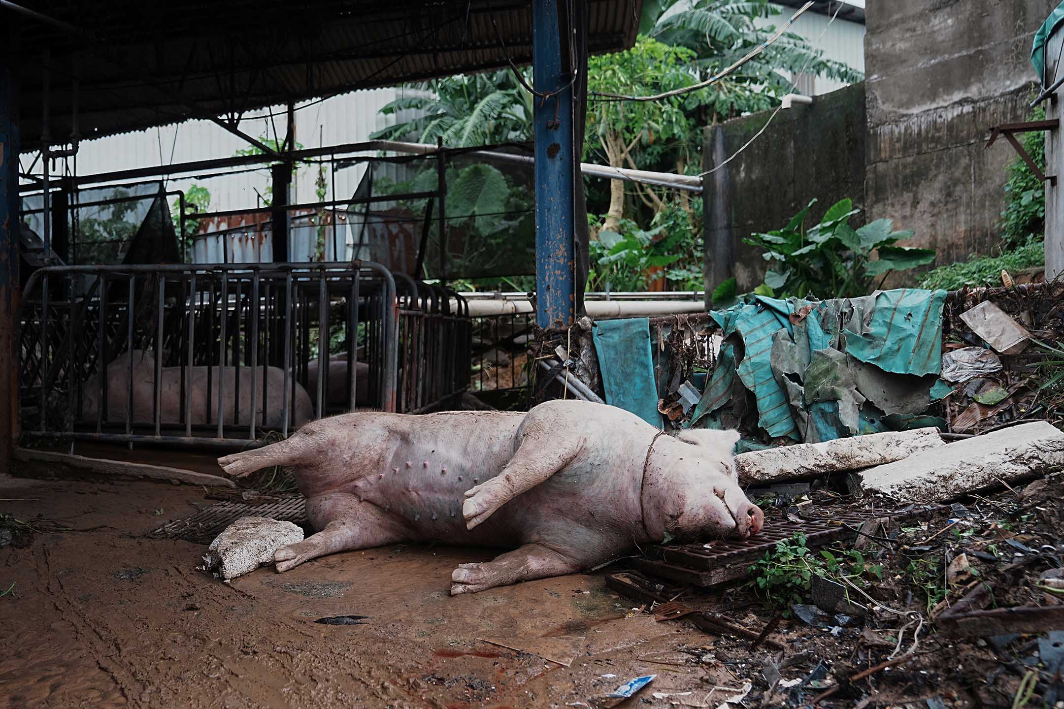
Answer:
M647 318L600 320L592 328L605 403L662 427Z

